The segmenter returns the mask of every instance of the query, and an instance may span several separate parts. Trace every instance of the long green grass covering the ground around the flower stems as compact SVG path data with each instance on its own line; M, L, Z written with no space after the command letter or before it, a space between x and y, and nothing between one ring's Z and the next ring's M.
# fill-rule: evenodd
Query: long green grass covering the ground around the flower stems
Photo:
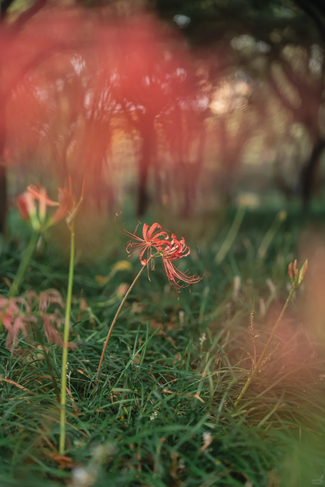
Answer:
M182 290L177 301L158 262L151 282L141 276L115 325L97 387L102 345L120 302L114 301L115 289L131 283L140 264L132 260L132 271L116 273L104 287L95 276L109 274L117 260L125 259L123 245L112 259L76 264L70 339L78 348L68 358L74 403L67 398L67 455L73 468L92 468L92 485L304 487L322 478L325 380L319 376L325 374L324 351L306 337L299 294L285 318L290 334L284 339L280 326L272 356L234 409L252 364L250 311L255 310L258 355L274 323L268 318L273 319L272 307L287 298L287 264L301 220L288 218L261 260L257 249L275 213L246 214L217 265L215 255L233 216L215 242L203 245L200 254L193 248L188 266L200 273L207 265L207 273L191 293ZM19 256L16 244L4 244L0 278L13 279ZM236 275L242 286L234 300ZM47 248L34 256L21 294L54 287L65 298L67 277L68 262ZM268 278L277 287L271 300ZM1 281L0 293L6 292ZM80 296L87 303L83 313ZM260 298L269 305L266 316L259 312ZM135 309L134 301L142 306ZM34 345L20 339L18 348L34 353L32 361L22 361L5 348L3 332L0 337L0 377L28 389L0 382L0 486L69 485L71 468L49 457L59 435L51 376L59 380L61 350L46 343L47 360L35 352L45 341L39 327ZM213 439L204 449L207 433ZM102 454L99 445L106 448Z

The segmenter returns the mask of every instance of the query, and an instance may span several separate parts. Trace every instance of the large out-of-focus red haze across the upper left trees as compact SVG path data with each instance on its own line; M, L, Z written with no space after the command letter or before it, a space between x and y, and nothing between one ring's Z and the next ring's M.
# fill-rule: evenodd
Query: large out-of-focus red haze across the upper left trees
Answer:
M103 164L114 131L121 130L140 141L138 212L148 203L151 167L156 200L168 193L169 182L183 178L186 212L202 163L204 132L191 56L182 39L152 15L104 14L45 6L24 25L1 25L6 113L0 114L0 125L7 164L23 159L28 164L38 154L50 162L49 171L61 185L71 174L81 186L87 174L100 200ZM197 157L185 171L194 139L199 139ZM158 163L161 143L172 155L172 165L165 162L164 168Z

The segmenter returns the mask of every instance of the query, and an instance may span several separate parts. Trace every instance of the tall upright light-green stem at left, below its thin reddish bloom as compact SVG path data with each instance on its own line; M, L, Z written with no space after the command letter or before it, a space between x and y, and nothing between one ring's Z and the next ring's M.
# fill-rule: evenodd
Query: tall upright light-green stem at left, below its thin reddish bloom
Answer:
M67 385L67 363L68 363L68 342L69 342L69 328L70 328L70 313L71 313L71 299L72 299L72 285L74 280L74 263L75 263L75 227L74 222L70 223L69 229L71 232L70 240L70 266L69 266L69 281L67 294L67 307L65 311L64 323L64 337L63 337L63 354L62 354L62 370L61 370L61 411L60 411L60 441L59 453L64 454L65 449L65 400L66 400L66 385Z

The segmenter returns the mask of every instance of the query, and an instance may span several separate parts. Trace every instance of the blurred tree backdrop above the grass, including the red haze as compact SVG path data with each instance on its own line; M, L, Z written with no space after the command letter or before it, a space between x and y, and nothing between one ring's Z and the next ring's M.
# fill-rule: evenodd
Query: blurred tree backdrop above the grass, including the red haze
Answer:
M4 0L1 22L2 208L36 174L138 215L322 196L322 0Z

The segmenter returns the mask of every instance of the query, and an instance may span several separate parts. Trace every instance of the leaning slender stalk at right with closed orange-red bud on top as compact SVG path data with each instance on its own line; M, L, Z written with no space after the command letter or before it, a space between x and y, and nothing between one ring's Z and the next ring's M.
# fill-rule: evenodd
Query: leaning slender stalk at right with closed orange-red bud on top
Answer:
M267 344L265 345L264 347L264 350L263 352L261 353L261 356L260 358L258 359L258 361L256 362L256 365L255 367L253 368L251 374L249 375L249 378L247 379L243 389L241 390L236 402L235 402L235 407L238 406L238 403L239 401L242 399L243 395L246 393L248 387L249 387L249 384L251 383L254 375L257 374L257 372L259 371L259 368L260 368L260 365L261 363L263 362L263 359L265 358L266 356L266 353L268 351L268 347L270 346L271 344L271 341L273 340L273 337L275 335L275 332L277 331L280 323L281 323L281 320L283 318L283 315L285 314L285 311L288 307L288 304L293 296L293 293L295 292L295 290L297 289L297 287L299 286L299 284L301 283L301 281L304 279L304 276L306 274L306 270L307 270L307 261L305 261L304 265L302 266L302 268L300 269L300 272L298 272L298 269L297 269L297 261L294 261L293 263L293 270L294 270L294 274L292 275L292 263L289 264L288 266L288 275L289 275L289 278L290 278L290 281L291 281L291 284L292 284L292 289L289 293L289 296L287 297L287 301L285 302L285 305L284 307L282 308L282 311L280 313L280 316L279 318L277 319L274 327L273 327L273 330L268 338L268 341L267 341Z

